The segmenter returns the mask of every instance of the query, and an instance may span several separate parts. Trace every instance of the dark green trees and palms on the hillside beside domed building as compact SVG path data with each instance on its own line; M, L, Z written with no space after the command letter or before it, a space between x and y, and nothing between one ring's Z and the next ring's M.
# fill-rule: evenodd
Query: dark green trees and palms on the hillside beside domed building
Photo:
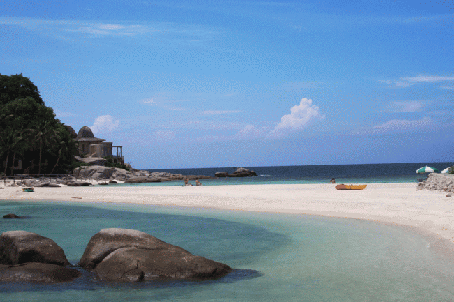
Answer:
M64 173L76 152L76 142L36 86L22 75L0 75L0 165L6 160L1 171L18 159L30 174Z

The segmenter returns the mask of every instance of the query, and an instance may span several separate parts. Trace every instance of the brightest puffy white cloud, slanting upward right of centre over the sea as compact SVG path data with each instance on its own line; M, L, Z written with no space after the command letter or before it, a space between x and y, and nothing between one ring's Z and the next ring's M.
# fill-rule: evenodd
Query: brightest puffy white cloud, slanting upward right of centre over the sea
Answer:
M267 138L279 138L295 133L307 125L313 119L323 119L316 105L312 105L312 100L302 98L300 105L295 105L290 109L291 114L282 116L281 121L274 129L268 133Z

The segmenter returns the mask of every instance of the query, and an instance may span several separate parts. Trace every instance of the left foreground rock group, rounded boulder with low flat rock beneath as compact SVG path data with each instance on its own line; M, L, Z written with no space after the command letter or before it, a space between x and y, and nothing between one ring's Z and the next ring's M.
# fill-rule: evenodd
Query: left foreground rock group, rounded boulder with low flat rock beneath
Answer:
M67 282L82 273L52 239L26 231L0 235L0 282Z

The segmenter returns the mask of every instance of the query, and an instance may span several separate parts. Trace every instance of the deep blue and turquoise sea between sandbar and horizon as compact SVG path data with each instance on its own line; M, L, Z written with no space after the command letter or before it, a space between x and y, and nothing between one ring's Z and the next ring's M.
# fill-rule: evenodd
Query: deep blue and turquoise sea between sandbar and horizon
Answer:
M258 176L244 178L222 178L202 180L204 186L241 185L241 184L281 184L281 183L328 183L335 178L337 183L413 183L425 174L416 174L420 167L435 167L440 171L454 163L399 163L399 164L365 164L365 165L314 165L282 167L245 167L256 172ZM150 172L170 172L183 175L213 176L216 172L232 173L234 167L216 167L200 169L161 169ZM183 181L163 183L134 183L116 186L182 186Z

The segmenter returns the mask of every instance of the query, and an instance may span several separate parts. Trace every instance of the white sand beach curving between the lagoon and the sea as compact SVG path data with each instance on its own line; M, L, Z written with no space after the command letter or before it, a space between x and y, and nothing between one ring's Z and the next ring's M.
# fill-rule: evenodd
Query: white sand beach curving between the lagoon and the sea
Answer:
M3 200L122 202L357 218L411 227L432 237L432 247L454 247L454 199L416 190L416 183L371 183L366 190L338 191L333 184L239 186L89 186L0 190ZM6 213L3 213L6 214Z

